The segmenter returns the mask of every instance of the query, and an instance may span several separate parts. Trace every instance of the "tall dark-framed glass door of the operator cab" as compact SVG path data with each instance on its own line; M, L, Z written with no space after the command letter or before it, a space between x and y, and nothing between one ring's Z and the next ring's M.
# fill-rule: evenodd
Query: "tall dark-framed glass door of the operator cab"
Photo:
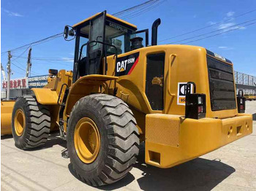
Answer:
M88 64L86 74L103 74L102 58L105 56L106 11L91 20L89 32Z

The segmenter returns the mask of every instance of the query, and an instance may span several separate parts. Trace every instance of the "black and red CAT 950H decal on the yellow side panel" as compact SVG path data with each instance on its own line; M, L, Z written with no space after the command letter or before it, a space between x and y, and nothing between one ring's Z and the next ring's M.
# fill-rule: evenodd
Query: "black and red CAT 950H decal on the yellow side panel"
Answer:
M136 64L139 61L140 52L133 53L132 55L126 55L121 58L117 58L116 62L116 76L124 76L132 73Z

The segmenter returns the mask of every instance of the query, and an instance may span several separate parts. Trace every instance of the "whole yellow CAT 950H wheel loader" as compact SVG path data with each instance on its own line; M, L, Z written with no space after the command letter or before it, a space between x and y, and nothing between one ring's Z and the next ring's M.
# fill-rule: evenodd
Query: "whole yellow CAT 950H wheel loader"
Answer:
M48 85L18 98L15 146L43 147L59 128L74 171L97 187L127 175L141 142L147 164L170 168L252 133L233 63L203 47L157 45L160 23L151 44L148 29L106 11L65 26L73 70L50 69Z

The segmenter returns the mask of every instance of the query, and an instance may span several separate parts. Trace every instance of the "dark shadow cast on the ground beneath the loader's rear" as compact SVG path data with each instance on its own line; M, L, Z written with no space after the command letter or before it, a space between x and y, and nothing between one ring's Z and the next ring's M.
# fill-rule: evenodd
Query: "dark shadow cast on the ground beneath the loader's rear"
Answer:
M212 190L220 182L235 172L235 168L220 160L196 158L173 168L161 169L144 162L144 145L140 145L140 155L134 168L140 169L142 177L137 179L141 190ZM69 171L78 176L69 164ZM135 180L132 174L114 184L98 187L101 190L117 190Z

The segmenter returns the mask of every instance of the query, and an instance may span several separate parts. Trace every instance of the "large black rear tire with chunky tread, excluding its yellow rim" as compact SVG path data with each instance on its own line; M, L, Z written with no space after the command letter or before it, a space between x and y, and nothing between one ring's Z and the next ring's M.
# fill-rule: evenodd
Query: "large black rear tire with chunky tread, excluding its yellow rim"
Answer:
M83 163L75 150L74 132L83 117L93 120L99 130L99 152L91 163ZM136 162L138 136L135 117L124 101L105 94L81 98L72 108L67 128L67 148L74 171L80 180L94 187L117 182Z

